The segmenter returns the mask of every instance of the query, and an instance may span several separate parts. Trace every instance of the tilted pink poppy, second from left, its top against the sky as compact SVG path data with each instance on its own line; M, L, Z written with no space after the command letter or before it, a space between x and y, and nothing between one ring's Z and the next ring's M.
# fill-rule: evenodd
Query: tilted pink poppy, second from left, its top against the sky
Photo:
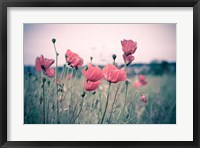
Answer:
M66 57L66 62L72 68L80 68L83 65L83 59L79 57L78 54L73 53L70 49L67 49L65 57Z

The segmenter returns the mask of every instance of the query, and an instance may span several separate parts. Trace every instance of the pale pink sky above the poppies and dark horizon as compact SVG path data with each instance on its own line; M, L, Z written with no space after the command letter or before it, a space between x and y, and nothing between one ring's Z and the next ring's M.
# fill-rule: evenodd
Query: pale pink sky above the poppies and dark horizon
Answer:
M58 65L65 64L65 52L78 53L84 64L123 63L121 40L137 41L133 63L152 60L176 61L176 24L24 24L24 64L34 65L44 55L55 59L52 38L56 38Z

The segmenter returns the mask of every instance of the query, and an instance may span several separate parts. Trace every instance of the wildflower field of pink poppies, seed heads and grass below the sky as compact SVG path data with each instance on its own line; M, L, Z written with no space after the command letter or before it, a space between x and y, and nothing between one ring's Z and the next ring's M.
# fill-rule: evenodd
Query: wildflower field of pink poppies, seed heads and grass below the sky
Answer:
M133 73L137 42L122 40L123 55L101 66L72 49L59 55L56 39L52 46L55 59L41 53L24 72L25 124L176 124L176 72L163 62L160 74Z

